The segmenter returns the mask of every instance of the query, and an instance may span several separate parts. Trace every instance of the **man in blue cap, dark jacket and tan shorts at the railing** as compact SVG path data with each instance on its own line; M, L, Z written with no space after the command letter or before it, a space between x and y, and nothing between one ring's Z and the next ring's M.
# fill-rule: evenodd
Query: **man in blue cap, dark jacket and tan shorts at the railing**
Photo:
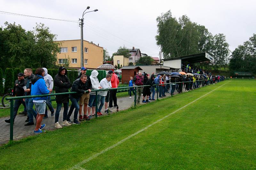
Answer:
M81 75L83 75L83 74L86 75L86 71L87 71L87 69L85 67L81 67L81 73L76 77L76 79L80 79ZM91 83L91 79L89 76L87 76L86 82L89 85L89 89L92 89L92 83ZM84 104L84 115L86 115L87 110L88 110L89 97L90 97L90 93L87 92L87 93L83 94L79 99L79 121L86 120L85 118L87 118L87 116L86 117L82 116L82 108L83 108L83 104ZM69 123L71 123L71 122L69 122Z

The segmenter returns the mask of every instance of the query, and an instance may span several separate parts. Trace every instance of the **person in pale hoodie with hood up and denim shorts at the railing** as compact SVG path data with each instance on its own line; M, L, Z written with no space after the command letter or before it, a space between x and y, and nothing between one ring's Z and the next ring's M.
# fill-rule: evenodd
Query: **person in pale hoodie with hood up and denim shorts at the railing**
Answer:
M93 70L92 74L90 76L91 79L91 83L92 83L92 90L96 90L96 89L102 89L102 87L100 86L100 82L97 78L98 75L98 71L97 70ZM89 98L89 103L88 103L88 117L92 118L92 116L95 115L95 98L96 98L96 92L95 91L91 91L90 92L90 98ZM98 101L97 101L98 102ZM91 115L91 108L92 108L92 115Z

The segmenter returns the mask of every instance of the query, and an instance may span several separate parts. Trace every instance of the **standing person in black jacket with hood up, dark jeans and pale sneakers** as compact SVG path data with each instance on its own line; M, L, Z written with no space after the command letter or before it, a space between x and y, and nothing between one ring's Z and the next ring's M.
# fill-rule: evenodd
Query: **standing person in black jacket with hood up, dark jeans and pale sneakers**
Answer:
M65 93L68 92L68 89L71 87L71 83L67 76L67 69L65 67L60 67L58 74L54 77L54 87L55 87L55 93ZM57 108L55 112L55 127L56 128L62 128L62 126L59 124L59 115L61 106L63 103L64 111L63 111L63 125L70 125L67 122L67 114L68 114L68 102L69 97L68 95L56 95L56 103Z

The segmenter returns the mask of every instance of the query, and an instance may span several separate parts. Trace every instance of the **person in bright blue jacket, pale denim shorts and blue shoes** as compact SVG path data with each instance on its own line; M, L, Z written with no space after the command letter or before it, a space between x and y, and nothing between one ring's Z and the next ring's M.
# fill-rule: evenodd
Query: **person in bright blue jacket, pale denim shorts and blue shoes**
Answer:
M36 76L31 79L31 96L33 95L44 95L50 94L52 89L47 89L44 81L44 69L37 68L36 69ZM35 104L37 116L36 116L36 128L34 133L42 133L42 129L45 127L45 124L41 125L41 122L44 117L45 107L46 107L46 100L47 97L33 97L33 102Z

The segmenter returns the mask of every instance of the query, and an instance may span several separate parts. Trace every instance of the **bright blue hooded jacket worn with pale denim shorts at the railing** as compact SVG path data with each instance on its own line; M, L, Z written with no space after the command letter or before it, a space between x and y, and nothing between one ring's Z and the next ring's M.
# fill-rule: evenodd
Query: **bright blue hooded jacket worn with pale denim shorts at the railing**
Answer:
M44 77L41 75L36 75L31 80L32 86L31 86L31 96L34 95L44 95L49 94L49 90L47 89L44 81ZM45 97L33 97L33 100L46 100L47 96Z

